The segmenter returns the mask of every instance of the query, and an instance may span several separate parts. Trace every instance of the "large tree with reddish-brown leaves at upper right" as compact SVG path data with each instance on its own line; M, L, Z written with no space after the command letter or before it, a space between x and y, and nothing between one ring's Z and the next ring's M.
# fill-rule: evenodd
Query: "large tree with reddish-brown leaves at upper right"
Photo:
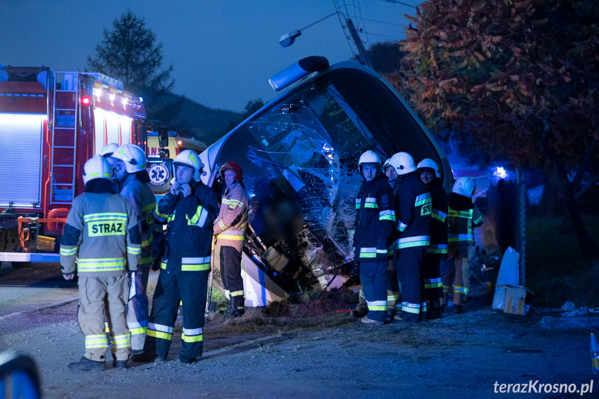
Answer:
M589 238L567 175L599 170L597 1L429 0L410 19L402 75L390 79L425 124L473 162L557 173Z

